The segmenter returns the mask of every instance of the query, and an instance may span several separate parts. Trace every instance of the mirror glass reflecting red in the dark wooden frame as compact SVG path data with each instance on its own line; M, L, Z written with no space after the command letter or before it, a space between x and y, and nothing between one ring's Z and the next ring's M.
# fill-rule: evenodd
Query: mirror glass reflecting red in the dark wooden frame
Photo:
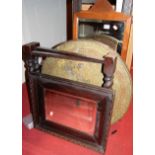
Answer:
M45 119L93 135L96 101L46 89Z

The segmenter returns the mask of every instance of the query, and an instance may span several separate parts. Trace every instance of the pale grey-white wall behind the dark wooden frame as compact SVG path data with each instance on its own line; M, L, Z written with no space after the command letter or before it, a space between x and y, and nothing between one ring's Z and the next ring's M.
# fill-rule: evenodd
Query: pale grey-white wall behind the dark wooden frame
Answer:
M22 43L52 47L66 40L66 0L23 0ZM24 67L22 82L24 82Z

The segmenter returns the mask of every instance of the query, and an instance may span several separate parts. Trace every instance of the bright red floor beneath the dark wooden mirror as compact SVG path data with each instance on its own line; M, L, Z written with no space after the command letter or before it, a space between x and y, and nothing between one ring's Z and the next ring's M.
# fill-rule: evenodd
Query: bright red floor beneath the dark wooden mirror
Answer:
M30 113L26 86L22 86L23 117ZM132 155L133 106L122 120L111 126L105 155ZM49 135L37 129L22 126L23 155L101 155L101 153Z

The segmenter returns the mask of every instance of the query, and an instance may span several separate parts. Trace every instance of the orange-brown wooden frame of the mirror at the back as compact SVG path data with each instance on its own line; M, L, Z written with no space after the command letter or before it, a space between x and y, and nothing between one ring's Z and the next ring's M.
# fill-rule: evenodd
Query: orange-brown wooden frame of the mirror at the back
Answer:
M123 13L118 12L96 12L96 11L80 11L74 14L73 23L73 39L78 39L78 25L79 19L91 19L91 20L105 20L105 21L120 21L124 22L124 37L122 42L121 57L126 62L127 50L129 43L130 27L131 27L131 16L127 16Z

